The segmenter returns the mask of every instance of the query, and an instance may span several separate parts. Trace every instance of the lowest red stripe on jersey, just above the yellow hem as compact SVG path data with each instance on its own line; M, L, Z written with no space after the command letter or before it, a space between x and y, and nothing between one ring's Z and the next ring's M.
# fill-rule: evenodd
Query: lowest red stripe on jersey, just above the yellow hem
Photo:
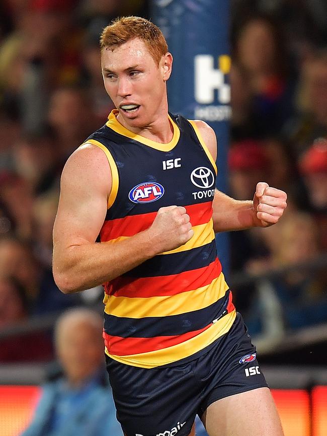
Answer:
M122 338L120 336L108 335L105 331L103 337L105 345L110 354L124 356L129 354L146 353L148 351L161 350L173 345L185 342L207 330L212 323L206 327L193 332L177 336L155 336L153 338Z

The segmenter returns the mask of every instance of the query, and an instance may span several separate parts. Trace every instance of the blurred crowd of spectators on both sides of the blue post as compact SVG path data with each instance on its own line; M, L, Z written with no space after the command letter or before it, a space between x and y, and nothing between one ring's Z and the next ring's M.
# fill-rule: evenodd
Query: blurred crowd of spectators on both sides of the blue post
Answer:
M141 0L0 4L0 331L101 301L101 287L63 295L52 277L60 173L113 108L100 70L102 29L149 11ZM289 198L277 226L230 235L231 272L260 276L234 295L251 333L278 336L327 322L327 268L303 266L327 251L327 6L232 0L231 18L229 194L252 198L263 180ZM293 264L303 267L265 278ZM30 333L21 346L0 347L0 361L47 360L47 343Z

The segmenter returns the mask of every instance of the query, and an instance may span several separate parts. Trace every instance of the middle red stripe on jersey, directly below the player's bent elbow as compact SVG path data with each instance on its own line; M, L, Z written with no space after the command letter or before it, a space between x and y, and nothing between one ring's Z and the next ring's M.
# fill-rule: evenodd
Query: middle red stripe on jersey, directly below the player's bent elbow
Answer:
M181 294L210 284L219 277L221 264L216 260L203 268L158 277L120 276L106 283L105 292L115 297L159 297Z

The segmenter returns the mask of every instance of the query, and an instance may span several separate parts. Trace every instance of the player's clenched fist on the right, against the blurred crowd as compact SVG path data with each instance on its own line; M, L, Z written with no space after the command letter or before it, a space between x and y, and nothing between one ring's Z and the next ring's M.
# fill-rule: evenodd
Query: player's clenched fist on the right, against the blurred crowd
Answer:
M276 224L287 206L286 199L286 192L259 182L253 198L254 225L269 227Z

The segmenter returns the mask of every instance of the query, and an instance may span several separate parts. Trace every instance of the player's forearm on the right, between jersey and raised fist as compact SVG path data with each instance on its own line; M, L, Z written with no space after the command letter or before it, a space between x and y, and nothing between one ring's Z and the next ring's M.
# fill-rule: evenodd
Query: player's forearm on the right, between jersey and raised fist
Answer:
M244 230L255 225L255 211L251 200L234 200L228 195L216 191L212 207L215 233Z

